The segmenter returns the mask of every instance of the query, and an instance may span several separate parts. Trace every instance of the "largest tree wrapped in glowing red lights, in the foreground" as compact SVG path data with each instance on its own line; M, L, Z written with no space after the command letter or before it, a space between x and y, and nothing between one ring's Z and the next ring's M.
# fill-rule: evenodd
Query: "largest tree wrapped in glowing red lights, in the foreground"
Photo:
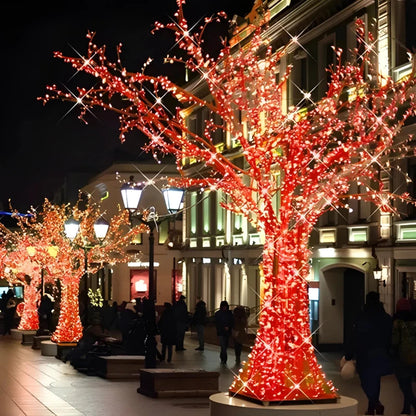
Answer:
M276 403L334 401L336 389L322 372L311 343L308 239L320 215L347 207L349 199L370 201L392 212L393 198L410 201L407 194L384 190L378 173L388 166L389 158L407 151L409 138L401 143L394 139L415 113L414 74L394 84L373 72L370 83L367 68L371 68L373 39L357 22L364 54L358 57L357 50L355 62L343 63L342 51L334 49L337 64L328 69L331 80L326 95L312 102L305 93L309 110L301 113L293 108L286 113L282 89L289 71L280 81L275 77L285 51L273 51L259 29L244 48L231 51L224 44L213 58L203 49L204 31L223 13L207 18L191 33L184 1L177 3L176 21L156 23L155 29L173 31L182 54L167 57L167 62L183 63L198 75L209 87L210 99L194 96L166 76L148 74L149 62L137 73L129 72L120 58L110 62L105 47L95 45L89 33L86 57L66 57L60 52L55 56L91 75L94 86L79 87L77 94L50 86L43 100L77 102L84 121L93 107L116 112L122 141L129 131L138 129L149 139L144 149L155 158L159 154L176 157L182 177L172 183L223 191L229 196L223 207L246 216L264 234L259 329L231 394ZM165 106L166 95L177 100L173 113ZM191 131L179 111L191 106L210 114L202 134ZM238 143L243 162L228 158L215 146L219 131ZM183 161L189 159L205 167L203 178L186 177ZM350 194L352 182L365 186L366 192Z

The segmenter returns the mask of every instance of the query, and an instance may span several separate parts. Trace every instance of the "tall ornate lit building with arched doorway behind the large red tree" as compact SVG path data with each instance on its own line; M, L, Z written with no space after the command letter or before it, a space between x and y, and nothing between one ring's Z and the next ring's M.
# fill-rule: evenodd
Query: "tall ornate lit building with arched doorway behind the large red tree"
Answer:
M357 18L377 39L373 59L380 74L395 80L408 75L412 67L408 52L416 46L411 30L415 10L413 1L399 0L256 1L247 16L232 19L230 44L244 47L256 25L265 20L264 36L275 50L292 40L276 69L279 77L292 67L282 106L287 110L304 106L307 111L309 98L317 101L326 91L325 68L336 62L333 46L345 51L345 59L357 48ZM188 88L208 97L201 83L190 83ZM204 109L189 108L183 114L190 130L203 131ZM409 123L401 135L415 130ZM223 154L238 161L233 137L218 133L215 140ZM398 169L380 169L385 189L416 196L411 181L416 179L415 158L406 155L395 163ZM185 168L188 175L200 172L192 160L186 161ZM359 191L359 186L352 184L351 190ZM241 215L222 209L219 203L225 198L220 192L187 192L182 251L186 292L189 304L201 296L213 311L226 299L249 307L255 320L260 306L262 235ZM399 216L381 213L367 202L350 201L347 209L328 211L319 219L310 239L310 317L315 343L342 344L370 290L380 292L389 313L400 297L416 297L416 212L413 206L395 204ZM377 274L376 280L374 271L379 269L381 276Z

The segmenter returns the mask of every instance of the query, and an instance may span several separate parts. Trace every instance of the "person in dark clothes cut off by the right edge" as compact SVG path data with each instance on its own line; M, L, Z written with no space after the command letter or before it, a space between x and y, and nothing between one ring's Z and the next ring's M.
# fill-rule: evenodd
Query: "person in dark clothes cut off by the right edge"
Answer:
M402 416L416 412L412 381L416 376L416 316L409 299L399 299L393 317L394 372L403 393Z

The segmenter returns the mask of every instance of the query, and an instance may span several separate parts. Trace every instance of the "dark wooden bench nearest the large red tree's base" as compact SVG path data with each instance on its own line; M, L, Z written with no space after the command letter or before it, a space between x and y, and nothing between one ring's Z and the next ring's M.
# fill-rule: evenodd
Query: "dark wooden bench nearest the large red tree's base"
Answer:
M137 392L150 397L207 397L218 393L219 375L199 369L143 369Z

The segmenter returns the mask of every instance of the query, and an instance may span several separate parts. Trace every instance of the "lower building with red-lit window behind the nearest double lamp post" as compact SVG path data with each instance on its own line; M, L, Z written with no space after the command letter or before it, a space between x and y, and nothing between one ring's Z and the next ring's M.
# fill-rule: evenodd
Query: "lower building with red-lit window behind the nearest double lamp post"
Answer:
M161 189L167 184L167 177L177 175L175 165L156 163L115 163L92 178L82 188L93 202L101 206L104 219L110 219L119 208L124 208L121 186L133 177L135 183L146 183L137 211L131 213L132 225L140 223L143 210L155 208L157 215L154 229L154 293L157 305L172 302L183 292L181 273L182 219L168 214ZM149 233L136 236L130 247L132 261L127 264L107 265L94 276L89 277L88 287L101 289L104 299L129 302L137 297L149 296Z

